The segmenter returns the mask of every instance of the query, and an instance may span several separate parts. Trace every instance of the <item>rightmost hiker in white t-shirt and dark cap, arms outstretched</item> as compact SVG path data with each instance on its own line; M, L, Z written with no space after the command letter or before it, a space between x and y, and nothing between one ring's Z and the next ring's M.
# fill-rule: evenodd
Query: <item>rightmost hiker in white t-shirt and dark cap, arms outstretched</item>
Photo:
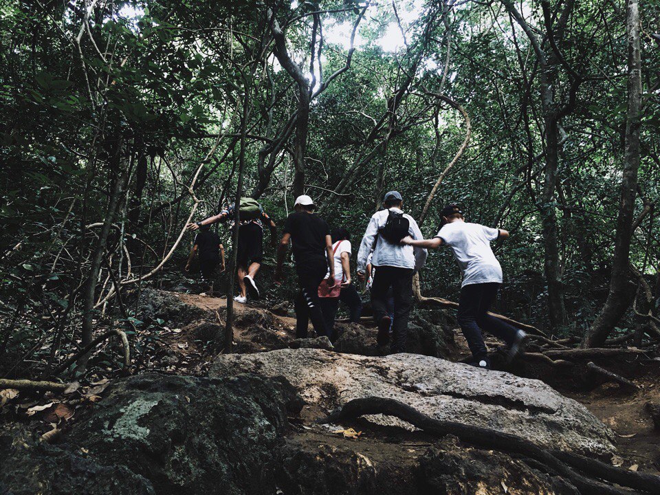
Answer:
M442 226L433 239L415 241L408 236L402 239L401 243L418 248L434 249L441 245L452 248L463 272L459 325L472 351L472 364L489 369L490 360L483 342L482 330L507 342L509 360L520 351L526 337L524 331L488 314L488 309L502 285L502 267L493 254L490 243L496 239L507 239L509 232L465 222L463 212L454 204L445 206L440 215Z

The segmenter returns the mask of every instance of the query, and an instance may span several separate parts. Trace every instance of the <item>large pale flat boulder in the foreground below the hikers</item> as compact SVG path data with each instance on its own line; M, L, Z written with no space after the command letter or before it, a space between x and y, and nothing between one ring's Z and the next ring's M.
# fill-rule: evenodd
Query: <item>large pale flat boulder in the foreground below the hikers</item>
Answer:
M606 456L612 432L586 408L538 380L414 354L385 358L320 349L221 355L210 376L284 377L307 404L331 410L358 397L388 397L437 419L525 437L548 448ZM370 417L406 426L394 418ZM409 425L408 425L409 426Z

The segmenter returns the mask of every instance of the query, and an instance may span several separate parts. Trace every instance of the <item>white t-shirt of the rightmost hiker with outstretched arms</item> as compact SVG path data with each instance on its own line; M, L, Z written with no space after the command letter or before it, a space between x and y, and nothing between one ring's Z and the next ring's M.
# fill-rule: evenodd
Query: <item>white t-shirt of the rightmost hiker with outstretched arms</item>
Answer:
M463 221L447 223L440 229L436 237L452 248L463 272L461 287L502 283L502 267L490 248L490 241L497 239L499 233L497 229Z

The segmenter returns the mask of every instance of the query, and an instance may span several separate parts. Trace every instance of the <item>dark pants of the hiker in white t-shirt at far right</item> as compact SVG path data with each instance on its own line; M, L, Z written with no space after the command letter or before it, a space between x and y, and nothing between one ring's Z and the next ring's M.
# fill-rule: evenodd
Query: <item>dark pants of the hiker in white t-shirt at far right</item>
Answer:
M477 361L487 356L482 330L492 333L509 345L516 340L518 331L514 327L487 314L499 288L498 283L482 283L465 285L461 289L458 311L459 325L461 325L463 336L472 351L472 356Z

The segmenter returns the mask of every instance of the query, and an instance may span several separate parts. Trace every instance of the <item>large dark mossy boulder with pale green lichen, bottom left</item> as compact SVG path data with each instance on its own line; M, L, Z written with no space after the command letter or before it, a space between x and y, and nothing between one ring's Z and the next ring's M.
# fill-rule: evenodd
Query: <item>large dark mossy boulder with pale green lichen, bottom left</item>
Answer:
M272 450L287 407L301 406L283 380L145 373L115 382L67 443L128 466L159 495L272 494Z

